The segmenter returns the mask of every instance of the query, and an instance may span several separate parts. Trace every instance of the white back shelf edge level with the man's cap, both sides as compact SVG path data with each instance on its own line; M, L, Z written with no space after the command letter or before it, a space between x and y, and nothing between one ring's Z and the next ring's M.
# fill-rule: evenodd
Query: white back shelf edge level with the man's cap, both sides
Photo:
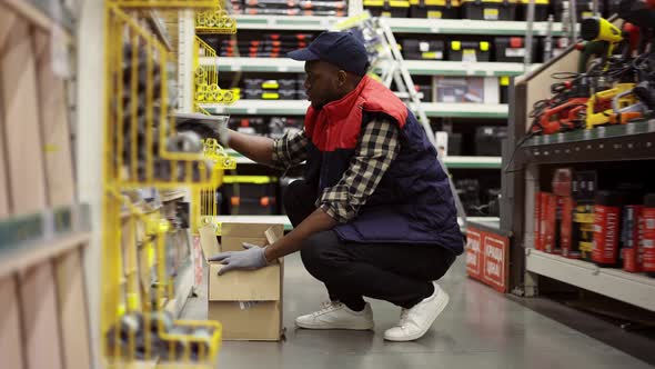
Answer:
M201 64L213 62L213 58L200 58ZM412 76L468 76L502 77L520 76L525 72L523 63L515 62L462 62L405 60ZM304 63L289 58L219 58L220 72L281 72L304 73ZM532 68L537 68L533 64Z

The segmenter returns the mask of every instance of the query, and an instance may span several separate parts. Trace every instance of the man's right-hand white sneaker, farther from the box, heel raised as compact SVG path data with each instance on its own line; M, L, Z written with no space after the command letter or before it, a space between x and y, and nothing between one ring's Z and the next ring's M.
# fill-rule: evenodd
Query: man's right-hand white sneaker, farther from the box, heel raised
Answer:
M434 293L423 299L411 309L403 309L401 320L396 327L384 332L384 339L390 341L412 341L425 335L432 323L449 305L449 295L436 282Z

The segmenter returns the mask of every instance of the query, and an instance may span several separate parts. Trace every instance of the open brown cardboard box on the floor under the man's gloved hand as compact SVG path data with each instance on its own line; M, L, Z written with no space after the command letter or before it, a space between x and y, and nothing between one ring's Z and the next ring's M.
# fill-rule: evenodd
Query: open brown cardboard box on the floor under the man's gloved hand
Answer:
M272 245L284 235L282 225L221 223L221 243L213 226L200 229L205 260L222 251L243 250L243 242ZM208 261L208 319L223 326L224 340L279 341L283 335L282 259L258 270L231 270Z

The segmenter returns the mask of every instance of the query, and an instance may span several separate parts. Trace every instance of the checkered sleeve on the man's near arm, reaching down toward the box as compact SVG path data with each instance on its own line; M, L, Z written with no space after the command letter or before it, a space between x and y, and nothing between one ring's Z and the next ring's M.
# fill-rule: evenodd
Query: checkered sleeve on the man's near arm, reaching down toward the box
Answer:
M362 130L349 169L316 201L316 206L341 223L355 218L401 149L399 128L390 118L374 119Z

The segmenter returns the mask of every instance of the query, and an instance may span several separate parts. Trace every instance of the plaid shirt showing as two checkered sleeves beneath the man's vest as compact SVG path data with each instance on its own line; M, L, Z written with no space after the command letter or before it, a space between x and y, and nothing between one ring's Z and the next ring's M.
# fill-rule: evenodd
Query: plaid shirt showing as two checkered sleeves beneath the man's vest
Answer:
M289 169L308 159L305 131L284 134L273 143L273 166ZM375 191L400 151L399 128L386 117L362 124L360 141L341 180L325 188L316 207L341 223L352 220Z

